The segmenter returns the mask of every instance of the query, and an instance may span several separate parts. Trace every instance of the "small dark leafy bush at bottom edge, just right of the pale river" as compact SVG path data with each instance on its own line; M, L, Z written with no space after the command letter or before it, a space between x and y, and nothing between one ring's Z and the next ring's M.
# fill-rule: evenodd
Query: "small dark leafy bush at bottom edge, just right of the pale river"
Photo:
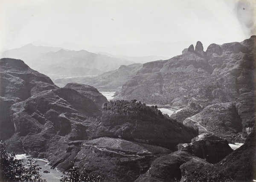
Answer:
M60 182L103 182L105 179L96 174L80 174L76 167L70 168L64 174L64 176L61 176Z

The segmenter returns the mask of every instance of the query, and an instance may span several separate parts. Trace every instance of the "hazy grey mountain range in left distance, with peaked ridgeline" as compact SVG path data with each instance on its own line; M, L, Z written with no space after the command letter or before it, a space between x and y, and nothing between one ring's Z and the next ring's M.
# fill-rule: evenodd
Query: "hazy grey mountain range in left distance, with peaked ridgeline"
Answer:
M1 57L21 59L33 69L51 78L99 75L118 69L121 65L134 63L85 50L69 51L59 47L34 46L33 44L2 52Z

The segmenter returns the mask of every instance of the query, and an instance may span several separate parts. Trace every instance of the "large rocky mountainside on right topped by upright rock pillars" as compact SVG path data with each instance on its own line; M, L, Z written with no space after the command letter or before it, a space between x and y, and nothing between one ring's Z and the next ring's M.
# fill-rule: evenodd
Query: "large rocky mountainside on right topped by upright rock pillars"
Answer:
M138 84L123 84L116 98L157 104L170 104L183 96L188 101L235 101L240 94L253 90L251 50L255 39L252 36L241 43L211 44L206 52L198 41L195 50L189 46L183 55L143 64L129 81Z

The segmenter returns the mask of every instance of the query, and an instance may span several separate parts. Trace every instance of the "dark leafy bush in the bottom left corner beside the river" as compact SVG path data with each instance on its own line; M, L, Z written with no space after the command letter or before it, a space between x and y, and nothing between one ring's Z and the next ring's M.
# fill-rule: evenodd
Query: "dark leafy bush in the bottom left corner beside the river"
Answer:
M6 144L0 140L0 181L3 182L46 182L39 173L40 165L35 159L23 160L15 158L14 152L6 151Z

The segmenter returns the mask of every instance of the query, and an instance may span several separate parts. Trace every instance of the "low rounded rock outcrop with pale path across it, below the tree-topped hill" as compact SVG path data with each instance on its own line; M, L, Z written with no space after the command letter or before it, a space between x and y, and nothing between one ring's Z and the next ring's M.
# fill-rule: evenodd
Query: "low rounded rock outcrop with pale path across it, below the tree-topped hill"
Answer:
M163 147L104 137L84 142L75 166L105 176L106 181L130 182L145 173L157 156L169 153Z

